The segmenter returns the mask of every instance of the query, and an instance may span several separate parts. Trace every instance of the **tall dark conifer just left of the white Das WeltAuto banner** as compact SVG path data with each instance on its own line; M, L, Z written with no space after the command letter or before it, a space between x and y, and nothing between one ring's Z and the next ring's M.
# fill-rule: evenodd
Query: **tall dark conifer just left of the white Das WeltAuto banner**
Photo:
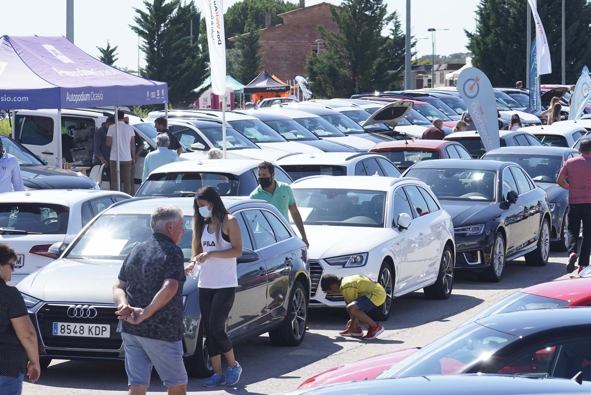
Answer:
M193 34L203 31L199 24L201 15L193 1L181 4L180 0L144 0L146 11L135 9L135 26L132 30L144 42L146 67L142 76L153 80L167 81L168 102L174 107L186 107L197 99L201 92L193 92L209 74L208 60L204 56L201 37L193 37L191 46L190 21L193 19ZM191 11L191 6L193 11Z

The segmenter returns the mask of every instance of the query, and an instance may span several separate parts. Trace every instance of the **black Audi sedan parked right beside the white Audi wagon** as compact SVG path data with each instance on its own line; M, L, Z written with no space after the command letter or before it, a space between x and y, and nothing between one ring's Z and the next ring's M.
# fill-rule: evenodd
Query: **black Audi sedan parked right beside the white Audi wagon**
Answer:
M498 282L509 260L525 255L530 266L548 262L548 195L517 164L439 159L418 162L402 177L424 181L452 216L456 269Z

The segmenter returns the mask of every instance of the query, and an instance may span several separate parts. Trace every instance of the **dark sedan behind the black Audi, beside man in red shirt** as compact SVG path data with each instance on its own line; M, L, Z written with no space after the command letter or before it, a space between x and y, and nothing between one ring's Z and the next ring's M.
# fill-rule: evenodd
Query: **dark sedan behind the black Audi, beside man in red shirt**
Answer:
M569 246L566 215L569 191L556 184L556 179L564 162L575 156L579 156L576 149L548 146L501 147L482 156L482 159L517 163L546 191L550 202L550 241L552 249L560 252Z

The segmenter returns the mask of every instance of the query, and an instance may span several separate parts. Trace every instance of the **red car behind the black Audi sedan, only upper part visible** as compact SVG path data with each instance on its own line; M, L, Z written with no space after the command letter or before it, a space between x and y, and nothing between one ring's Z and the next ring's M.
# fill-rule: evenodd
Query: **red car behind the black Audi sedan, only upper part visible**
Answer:
M470 159L460 143L447 140L398 140L377 143L369 152L390 159L401 171L428 159Z

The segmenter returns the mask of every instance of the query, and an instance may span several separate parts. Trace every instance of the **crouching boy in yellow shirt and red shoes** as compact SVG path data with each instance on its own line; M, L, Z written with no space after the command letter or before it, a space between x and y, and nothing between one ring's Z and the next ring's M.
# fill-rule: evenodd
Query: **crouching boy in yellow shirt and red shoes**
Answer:
M375 309L386 301L386 291L380 284L365 276L348 276L339 278L333 274L327 274L320 279L320 289L333 295L342 294L347 303L347 312L351 317L347 329L339 332L341 336L363 337L372 340L384 332L384 327L369 318L366 311ZM359 321L367 324L368 332L363 336L359 327Z

